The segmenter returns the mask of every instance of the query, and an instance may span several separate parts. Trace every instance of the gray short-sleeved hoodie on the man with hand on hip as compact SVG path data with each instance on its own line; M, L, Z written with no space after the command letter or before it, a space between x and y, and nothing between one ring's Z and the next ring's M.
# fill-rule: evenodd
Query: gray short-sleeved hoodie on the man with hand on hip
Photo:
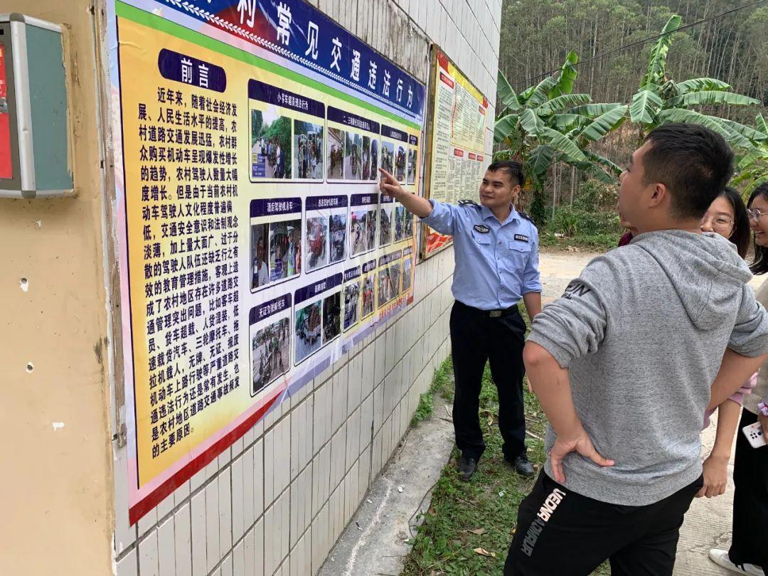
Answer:
M536 316L529 339L568 368L601 468L576 453L565 485L611 504L658 502L701 474L700 434L726 348L768 352L768 314L717 234L640 234L588 264ZM555 434L548 428L546 449ZM552 477L551 463L545 468Z

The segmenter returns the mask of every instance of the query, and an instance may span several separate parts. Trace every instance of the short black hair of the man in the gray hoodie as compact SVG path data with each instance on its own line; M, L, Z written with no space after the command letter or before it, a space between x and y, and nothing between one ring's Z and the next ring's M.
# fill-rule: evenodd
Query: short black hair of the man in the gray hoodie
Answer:
M733 150L720 134L700 124L670 123L645 137L647 184L665 184L672 194L672 215L701 218L733 176Z

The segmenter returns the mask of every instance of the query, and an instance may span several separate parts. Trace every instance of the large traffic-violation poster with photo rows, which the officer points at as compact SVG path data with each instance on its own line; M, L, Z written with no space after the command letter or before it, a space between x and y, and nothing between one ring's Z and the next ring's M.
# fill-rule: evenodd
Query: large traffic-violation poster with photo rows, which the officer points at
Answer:
M302 0L114 0L134 524L413 300L425 87Z

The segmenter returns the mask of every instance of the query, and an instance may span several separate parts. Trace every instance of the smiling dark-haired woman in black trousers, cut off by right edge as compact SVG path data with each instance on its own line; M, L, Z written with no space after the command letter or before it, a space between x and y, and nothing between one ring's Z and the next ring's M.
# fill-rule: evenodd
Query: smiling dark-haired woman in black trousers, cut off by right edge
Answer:
M747 202L750 226L755 233L755 260L750 269L755 274L768 272L768 183L757 187ZM768 306L768 282L755 293L756 300ZM768 432L768 362L760 366L757 386L744 397L744 409L738 428L755 422ZM763 574L768 569L768 446L753 448L746 436L736 440L733 463L733 535L730 550L710 550L716 564L739 574Z

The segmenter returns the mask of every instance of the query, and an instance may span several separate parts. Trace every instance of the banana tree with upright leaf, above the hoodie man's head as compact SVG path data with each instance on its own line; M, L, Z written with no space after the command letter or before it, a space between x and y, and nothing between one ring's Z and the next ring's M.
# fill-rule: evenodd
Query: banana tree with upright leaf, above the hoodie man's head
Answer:
M692 108L713 104L749 106L760 104L759 100L731 91L730 84L717 78L675 82L667 76L667 55L681 21L680 16L674 15L664 25L661 37L650 51L640 88L629 105L630 119L640 128L639 140L643 141L645 134L665 122L687 122L710 128L734 147L751 149L753 128Z

